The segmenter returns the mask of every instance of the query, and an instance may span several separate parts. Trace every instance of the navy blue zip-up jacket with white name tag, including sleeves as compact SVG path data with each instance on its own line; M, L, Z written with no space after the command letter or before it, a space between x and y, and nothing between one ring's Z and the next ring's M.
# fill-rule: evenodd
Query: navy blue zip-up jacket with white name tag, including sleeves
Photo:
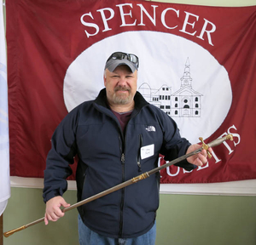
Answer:
M166 160L186 153L189 142L181 138L176 123L166 113L135 95L135 108L125 135L109 110L106 89L96 100L86 101L67 114L55 129L44 171L44 202L67 190L69 164L78 155L78 202L114 185L158 167L159 153ZM154 151L148 150L148 145ZM148 150L142 156L141 148ZM151 149L153 149L151 147ZM178 166L195 168L187 161ZM109 237L143 235L154 225L159 207L160 174L79 207L92 231Z

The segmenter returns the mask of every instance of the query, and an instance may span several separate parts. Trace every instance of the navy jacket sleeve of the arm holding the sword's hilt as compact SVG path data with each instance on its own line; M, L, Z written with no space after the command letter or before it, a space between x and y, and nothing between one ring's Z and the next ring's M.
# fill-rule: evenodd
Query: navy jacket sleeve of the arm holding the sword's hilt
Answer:
M179 129L177 128L176 122L167 116L166 113L163 115L162 130L164 134L164 144L162 147L161 154L165 156L166 161L172 161L177 157L182 157L186 154L189 145L189 140L182 138ZM194 164L189 163L187 160L178 162L175 166L185 168L187 171L197 168Z

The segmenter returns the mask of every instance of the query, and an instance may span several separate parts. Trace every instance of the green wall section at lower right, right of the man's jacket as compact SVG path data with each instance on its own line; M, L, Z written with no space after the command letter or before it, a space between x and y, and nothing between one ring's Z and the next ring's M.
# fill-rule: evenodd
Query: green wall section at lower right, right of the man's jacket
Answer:
M156 245L255 245L256 197L160 195Z

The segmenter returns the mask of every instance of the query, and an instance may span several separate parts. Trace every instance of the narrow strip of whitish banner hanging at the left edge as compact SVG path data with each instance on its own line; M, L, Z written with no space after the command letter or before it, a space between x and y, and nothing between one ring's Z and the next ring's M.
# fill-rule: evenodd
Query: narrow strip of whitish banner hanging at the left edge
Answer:
M0 1L0 216L10 197L9 122L3 1Z

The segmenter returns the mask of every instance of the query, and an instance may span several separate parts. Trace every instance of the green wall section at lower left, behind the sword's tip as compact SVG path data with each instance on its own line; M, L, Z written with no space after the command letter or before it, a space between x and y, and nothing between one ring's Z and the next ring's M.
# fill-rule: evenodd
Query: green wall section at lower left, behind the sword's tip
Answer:
M11 188L11 197L3 212L3 231L11 231L44 217L45 205L42 189ZM76 202L76 191L67 191L65 199ZM3 237L3 245L69 245L79 244L77 210L69 211L58 222L44 222Z

